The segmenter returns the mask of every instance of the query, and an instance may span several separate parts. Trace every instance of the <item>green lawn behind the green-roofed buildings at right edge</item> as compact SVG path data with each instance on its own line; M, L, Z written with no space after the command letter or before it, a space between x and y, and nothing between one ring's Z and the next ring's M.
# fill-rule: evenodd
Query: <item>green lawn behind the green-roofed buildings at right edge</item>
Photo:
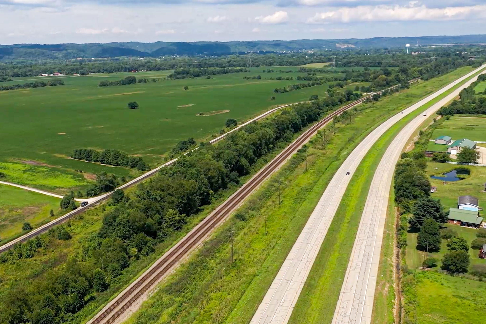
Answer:
M486 141L486 118L452 116L434 130L432 139L442 135L451 136L452 140L469 138L473 141Z

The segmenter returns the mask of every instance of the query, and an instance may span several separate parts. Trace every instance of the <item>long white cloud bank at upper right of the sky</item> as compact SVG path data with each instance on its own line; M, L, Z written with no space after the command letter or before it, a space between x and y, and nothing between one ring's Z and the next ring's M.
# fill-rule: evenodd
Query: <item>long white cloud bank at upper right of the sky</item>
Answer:
M410 21L410 20L461 20L472 17L486 17L486 5L427 8L411 1L406 6L378 5L339 8L317 13L307 19L308 23L353 22L353 21Z

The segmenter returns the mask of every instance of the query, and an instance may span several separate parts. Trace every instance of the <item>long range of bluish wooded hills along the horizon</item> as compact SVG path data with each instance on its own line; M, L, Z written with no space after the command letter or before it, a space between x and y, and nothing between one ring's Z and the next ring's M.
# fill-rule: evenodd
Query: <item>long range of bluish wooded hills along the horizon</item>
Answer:
M401 48L435 44L482 44L486 35L375 37L348 39L256 40L231 42L155 42L91 44L0 45L0 60L75 59L104 57L160 57L164 55L224 55L249 51L310 51Z

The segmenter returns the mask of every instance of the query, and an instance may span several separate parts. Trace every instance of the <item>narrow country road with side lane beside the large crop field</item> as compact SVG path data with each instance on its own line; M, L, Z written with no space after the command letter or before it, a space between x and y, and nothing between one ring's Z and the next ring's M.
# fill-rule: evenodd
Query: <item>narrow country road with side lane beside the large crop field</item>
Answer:
M240 128L254 122L254 121L257 121L259 119L262 119L272 113L274 113L275 111L279 110L279 109L282 109L284 107L288 107L288 106L292 106L292 105L295 105L295 104L298 104L298 103L303 103L303 102L295 102L295 103L289 103L289 104L285 104L285 105L282 105L282 106L278 106L276 108L273 108L273 109L270 109L266 112L264 112L263 114L253 118L253 119L250 119L248 120L247 122L241 124L240 126L230 130L229 132L221 135L221 136L218 136L214 139L211 139L209 141L210 144L214 144L218 141L220 141L221 139L225 138L228 134L231 134L232 132L234 131L237 131L239 130ZM195 149L191 150L192 151L195 151L199 149L199 147L196 147ZM187 154L187 153L186 153ZM142 175L140 175L139 177L127 182L126 184L124 185L121 185L120 187L118 187L117 189L126 189L128 187L131 187L133 185L136 185L138 184L139 182L153 176L154 174L156 174L161 168L164 168L164 167L167 167L167 166L170 166L172 164L175 163L175 161L177 161L177 158L173 159L173 160L170 160L169 162L167 163L164 163L163 165L153 169L153 170L150 170ZM49 195L49 196L53 196L53 197L57 197L57 198L63 198L63 196L60 196L60 195L56 195L54 193L51 193L51 192L47 192L47 191L43 191L43 190L38 190L38 189L35 189L35 188L29 188L29 187L25 187L25 186L20 186L20 185L16 185L16 184L12 184L12 183L9 183L9 182L0 182L1 184L4 184L4 185L9 185L9 186L15 186L15 187L18 187L18 188L23 188L23 189L26 189L26 190L30 190L30 191L35 191L35 192L38 192L38 193L42 193L42 194L45 194L45 195ZM34 238L35 236L39 235L39 234L42 234L46 231L48 231L52 226L55 226L55 225L58 225L60 223L63 223L63 222L66 222L69 218L71 218L72 216L74 215L77 215L77 214L80 214L82 213L83 211L85 211L87 209L87 207L91 207L93 205L97 205L101 202L103 202L104 200L108 199L111 194L113 193L113 191L111 192L108 192L108 193L104 193L100 196L97 196L97 197L92 197L92 198L86 198L86 199L76 199L77 201L87 201L89 203L89 205L85 206L85 207L79 207L78 209L76 210L73 210L73 211L70 211L69 213L53 220L52 222L49 222L45 225L42 225L38 228L35 228L34 230L32 230L31 232L17 238L17 239L14 239L2 246L0 246L0 253L2 252L5 252L7 251L8 249L11 249L15 244L19 243L19 242L24 242L28 239L32 239Z

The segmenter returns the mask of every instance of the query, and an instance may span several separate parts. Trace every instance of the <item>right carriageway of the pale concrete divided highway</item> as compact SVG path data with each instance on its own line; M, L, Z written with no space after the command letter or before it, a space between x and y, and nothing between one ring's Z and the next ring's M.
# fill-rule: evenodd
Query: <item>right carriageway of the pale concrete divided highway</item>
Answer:
M431 114L457 97L462 89L476 79L477 76L432 105L426 111L427 116L420 114L409 122L383 155L368 191L332 324L371 323L389 192L400 153L409 138Z

